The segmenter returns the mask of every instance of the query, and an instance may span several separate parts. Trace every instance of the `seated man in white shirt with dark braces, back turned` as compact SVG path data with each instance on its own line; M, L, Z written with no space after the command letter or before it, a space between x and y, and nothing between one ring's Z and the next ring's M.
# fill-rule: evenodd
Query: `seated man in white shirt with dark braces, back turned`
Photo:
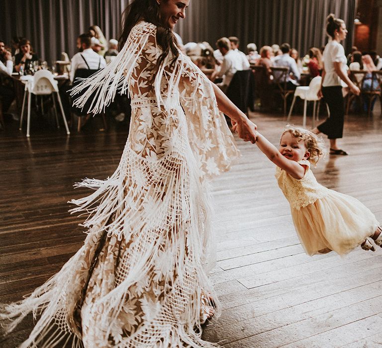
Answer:
M92 39L88 34L77 38L77 48L80 50L71 60L70 81L73 83L77 69L102 69L106 66L105 59L92 49Z

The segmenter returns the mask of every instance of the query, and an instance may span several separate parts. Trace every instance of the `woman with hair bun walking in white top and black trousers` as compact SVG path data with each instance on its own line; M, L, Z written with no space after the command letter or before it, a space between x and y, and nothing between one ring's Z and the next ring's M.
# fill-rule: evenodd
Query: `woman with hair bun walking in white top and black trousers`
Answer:
M330 141L330 154L347 155L337 145L337 139L342 138L344 129L344 97L342 87L349 86L350 90L360 94L360 89L353 84L346 72L347 59L344 47L340 44L345 40L347 30L345 22L342 19L335 18L331 13L327 16L326 32L329 36L329 42L323 52L324 68L322 70L321 89L318 96L323 96L328 104L330 117L323 123L313 129L316 134L324 133Z

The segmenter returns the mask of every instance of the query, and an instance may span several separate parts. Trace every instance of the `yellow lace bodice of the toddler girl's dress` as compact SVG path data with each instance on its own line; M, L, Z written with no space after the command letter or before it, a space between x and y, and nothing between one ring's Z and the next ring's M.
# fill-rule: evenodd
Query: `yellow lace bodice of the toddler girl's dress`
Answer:
M329 189L319 184L310 170L310 162L298 161L300 165L306 166L305 174L301 179L295 179L286 171L276 167L276 178L290 206L300 210L317 199L328 195Z

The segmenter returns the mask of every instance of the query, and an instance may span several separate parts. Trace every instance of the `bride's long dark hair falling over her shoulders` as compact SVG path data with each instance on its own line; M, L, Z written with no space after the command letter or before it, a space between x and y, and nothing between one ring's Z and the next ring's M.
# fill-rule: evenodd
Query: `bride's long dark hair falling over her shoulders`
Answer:
M168 1L168 0L162 0ZM163 53L157 60L159 68L171 51L174 60L179 57L179 51L175 46L175 36L171 29L164 26L159 19L159 4L156 0L134 0L122 13L122 34L118 40L119 50L122 49L133 26L139 21L145 20L157 26L157 44L162 48Z

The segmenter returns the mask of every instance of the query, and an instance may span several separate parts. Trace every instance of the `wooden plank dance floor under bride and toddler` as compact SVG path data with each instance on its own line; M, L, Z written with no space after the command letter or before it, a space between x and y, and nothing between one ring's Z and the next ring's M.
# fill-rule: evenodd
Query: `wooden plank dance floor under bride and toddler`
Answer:
M347 117L340 144L350 156L327 157L314 173L382 221L379 110L376 105L371 118ZM281 115L251 118L278 143ZM67 201L87 190L72 185L112 174L127 137L127 126L67 137L45 125L32 127L27 140L15 124L6 127L0 133L0 302L31 292L80 248L82 220L69 215ZM273 164L255 145L238 144L242 158L212 183L218 261L210 276L224 310L204 338L227 348L381 347L382 249L306 256ZM15 347L31 327L26 320L0 347Z

